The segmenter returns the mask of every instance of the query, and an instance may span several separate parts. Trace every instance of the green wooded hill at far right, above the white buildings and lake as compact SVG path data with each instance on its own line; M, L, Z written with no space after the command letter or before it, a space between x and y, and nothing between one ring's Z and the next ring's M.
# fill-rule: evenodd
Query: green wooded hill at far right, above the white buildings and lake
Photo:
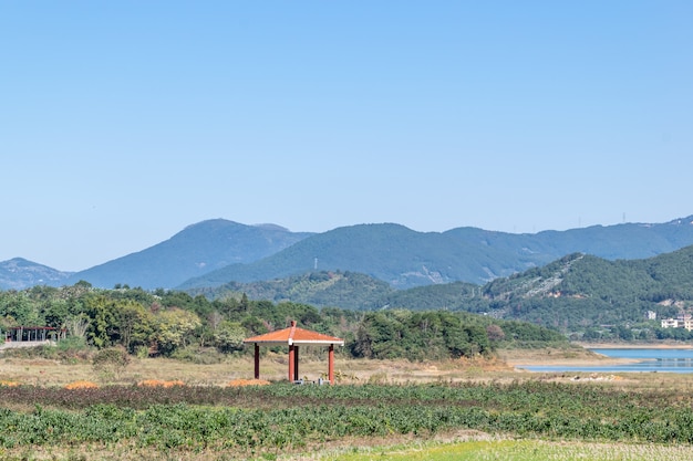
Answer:
M693 306L693 247L647 260L571 254L484 286L488 312L587 338L689 339L659 319ZM647 313L656 321L647 321Z

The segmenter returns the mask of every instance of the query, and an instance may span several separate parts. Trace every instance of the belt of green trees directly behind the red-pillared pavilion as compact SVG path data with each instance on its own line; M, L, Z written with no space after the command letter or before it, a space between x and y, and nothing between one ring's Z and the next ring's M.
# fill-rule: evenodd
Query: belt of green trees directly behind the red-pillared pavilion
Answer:
M200 349L244 350L246 337L300 326L345 339L340 354L366 358L444 359L490 355L498 346L566 344L546 328L445 311L358 312L308 304L250 301L246 295L209 301L184 292L77 283L0 292L0 329L11 326L66 328L72 338L103 349L201 359Z

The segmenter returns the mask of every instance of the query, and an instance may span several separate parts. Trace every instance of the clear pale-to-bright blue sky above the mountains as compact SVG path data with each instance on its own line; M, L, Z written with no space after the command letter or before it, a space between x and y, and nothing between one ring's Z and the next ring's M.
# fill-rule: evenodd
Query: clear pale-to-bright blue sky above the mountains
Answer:
M693 2L0 0L0 261L205 219L693 214Z

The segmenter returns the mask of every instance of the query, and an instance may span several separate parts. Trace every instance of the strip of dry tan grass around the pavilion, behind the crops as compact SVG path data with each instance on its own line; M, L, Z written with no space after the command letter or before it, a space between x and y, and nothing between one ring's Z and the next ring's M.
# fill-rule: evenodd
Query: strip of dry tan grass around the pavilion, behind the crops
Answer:
M583 349L501 350L498 359L448 360L412 363L408 360L344 359L335 362L337 378L346 384L404 384L431 381L466 381L524 379L515 371L515 364L558 363L609 364L613 359ZM143 379L183 380L188 385L224 386L232 379L251 378L252 359L249 356L225 357L207 364L166 358L133 358L122 369L99 371L89 357L11 357L0 355L0 381L12 380L34 386L64 386L75 380L102 385L135 384ZM288 358L285 354L267 354L260 362L260 377L271 381L287 378ZM327 373L324 357L301 356L300 375L317 380ZM537 377L530 374L531 377ZM528 376L529 377L529 376Z

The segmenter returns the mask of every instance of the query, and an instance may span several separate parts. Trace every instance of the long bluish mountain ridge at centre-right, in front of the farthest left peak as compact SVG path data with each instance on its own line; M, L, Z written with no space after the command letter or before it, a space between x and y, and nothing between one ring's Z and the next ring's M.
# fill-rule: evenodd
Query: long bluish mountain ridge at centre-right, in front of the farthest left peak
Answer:
M534 234L457 228L416 232L400 224L338 228L301 240L249 264L232 264L190 279L178 289L256 282L307 271L350 271L395 289L468 282L484 284L580 252L607 260L650 258L693 244L693 217L661 224L545 231Z

